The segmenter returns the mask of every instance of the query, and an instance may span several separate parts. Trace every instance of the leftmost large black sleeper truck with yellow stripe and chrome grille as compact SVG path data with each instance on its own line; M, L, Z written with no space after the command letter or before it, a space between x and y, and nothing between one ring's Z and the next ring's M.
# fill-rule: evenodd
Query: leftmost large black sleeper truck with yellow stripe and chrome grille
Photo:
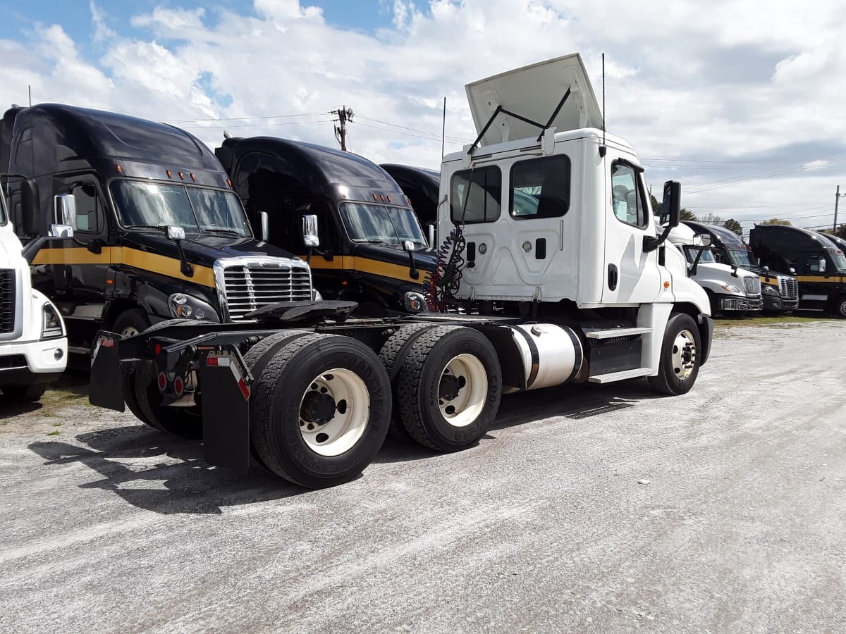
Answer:
M227 322L313 298L305 261L256 240L226 172L179 128L58 104L3 116L0 164L33 286L88 353L99 329L130 335L173 318ZM31 182L31 180L30 180ZM56 227L64 239L44 240Z

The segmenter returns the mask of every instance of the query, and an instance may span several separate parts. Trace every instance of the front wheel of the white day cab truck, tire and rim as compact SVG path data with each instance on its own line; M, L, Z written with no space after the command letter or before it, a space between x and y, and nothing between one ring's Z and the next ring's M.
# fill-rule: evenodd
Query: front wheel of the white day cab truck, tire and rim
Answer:
M699 374L699 328L689 314L670 316L661 347L658 375L649 377L649 385L659 394L678 396L687 393Z

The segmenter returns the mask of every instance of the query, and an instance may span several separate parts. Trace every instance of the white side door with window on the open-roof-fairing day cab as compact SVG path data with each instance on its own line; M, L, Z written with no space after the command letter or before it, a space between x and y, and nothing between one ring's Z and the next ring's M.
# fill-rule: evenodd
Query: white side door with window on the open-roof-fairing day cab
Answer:
M609 152L610 156L610 152ZM643 170L622 157L611 161L605 207L605 263L602 303L651 303L662 287L657 251L643 250L655 237Z

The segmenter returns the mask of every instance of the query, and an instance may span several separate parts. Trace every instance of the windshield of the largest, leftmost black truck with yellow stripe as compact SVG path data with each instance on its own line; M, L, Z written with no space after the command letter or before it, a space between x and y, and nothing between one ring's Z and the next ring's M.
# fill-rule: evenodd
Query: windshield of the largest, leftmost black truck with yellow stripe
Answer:
M186 234L252 235L233 192L124 180L113 181L109 189L124 227L175 226Z

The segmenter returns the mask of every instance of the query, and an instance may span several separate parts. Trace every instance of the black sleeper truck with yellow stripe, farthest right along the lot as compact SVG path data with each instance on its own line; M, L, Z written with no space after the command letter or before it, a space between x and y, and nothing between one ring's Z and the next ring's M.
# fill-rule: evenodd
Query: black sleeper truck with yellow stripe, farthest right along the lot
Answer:
M761 265L796 271L800 310L846 318L846 255L827 236L787 225L756 225L749 242Z

